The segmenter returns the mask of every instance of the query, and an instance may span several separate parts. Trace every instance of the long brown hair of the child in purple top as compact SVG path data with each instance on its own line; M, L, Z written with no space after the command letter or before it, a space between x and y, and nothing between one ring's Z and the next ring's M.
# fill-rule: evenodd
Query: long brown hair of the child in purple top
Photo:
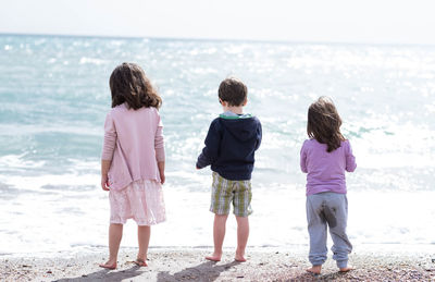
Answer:
M331 152L341 146L345 137L339 127L341 119L331 98L322 96L308 109L307 134L310 138L327 145Z

